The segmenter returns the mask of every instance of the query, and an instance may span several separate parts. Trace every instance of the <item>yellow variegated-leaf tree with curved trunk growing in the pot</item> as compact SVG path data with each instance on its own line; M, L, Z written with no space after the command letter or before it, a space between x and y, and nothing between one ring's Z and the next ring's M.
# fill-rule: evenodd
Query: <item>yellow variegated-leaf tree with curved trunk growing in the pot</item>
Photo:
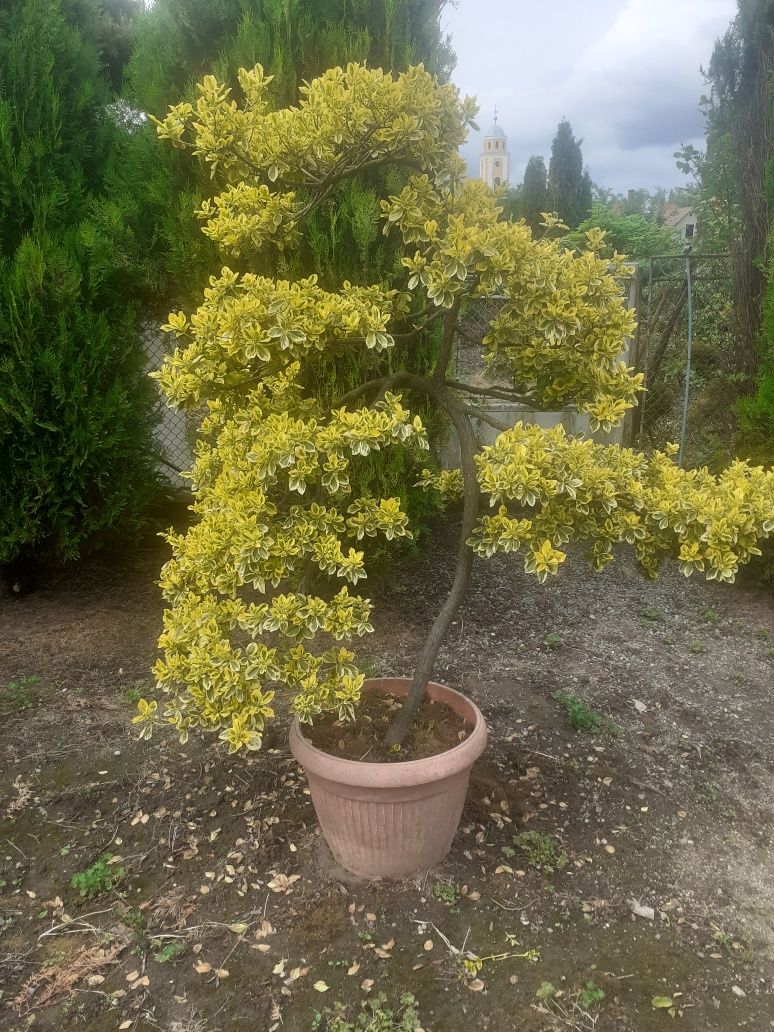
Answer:
M604 234L591 230L582 253L536 239L464 178L457 149L474 102L421 66L396 78L335 68L280 110L260 66L239 85L237 103L207 76L195 109L179 104L158 124L222 182L199 212L203 232L246 269L287 269L298 227L325 198L367 169L399 166L408 182L381 215L401 240L400 266L389 283L337 291L315 277L225 266L193 314L169 316L179 346L157 379L171 405L206 416L190 474L197 520L168 534L162 573L165 700L139 703L143 734L163 720L182 740L200 729L230 750L259 748L278 685L301 720L353 712L363 675L348 643L372 630L370 603L350 587L365 576L363 543L411 528L397 499L352 496L350 471L379 449L427 447L417 399L430 399L459 441L459 469L428 462L422 483L461 496L462 519L451 590L391 743L421 704L476 553L521 551L543 581L568 542L583 542L598 570L626 542L651 576L675 556L686 574L733 580L774 528L771 472L742 462L717 477L686 472L667 454L646 458L560 426L517 423L487 447L477 441L484 395L574 405L607 429L636 404L642 378L619 358L634 316L616 282L621 257L601 256ZM507 386L472 386L449 372L457 323L469 299L492 294L506 299L484 344ZM421 376L412 359L427 340L436 361ZM313 370L352 350L373 356L373 375L325 407Z

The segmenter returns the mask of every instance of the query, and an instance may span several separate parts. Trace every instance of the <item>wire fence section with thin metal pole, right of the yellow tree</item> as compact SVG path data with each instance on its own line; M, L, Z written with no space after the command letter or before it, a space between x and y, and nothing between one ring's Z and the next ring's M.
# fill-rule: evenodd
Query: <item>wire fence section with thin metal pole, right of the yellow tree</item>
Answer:
M635 443L646 451L675 443L683 465L712 462L734 425L729 255L651 258L640 269L637 315L646 390Z

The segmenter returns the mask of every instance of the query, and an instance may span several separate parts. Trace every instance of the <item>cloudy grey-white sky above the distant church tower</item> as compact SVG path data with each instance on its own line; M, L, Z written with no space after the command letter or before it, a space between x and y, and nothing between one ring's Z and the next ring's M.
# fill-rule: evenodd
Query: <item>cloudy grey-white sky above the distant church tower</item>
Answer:
M458 0L444 21L482 130L497 105L513 186L529 155L548 165L568 118L593 182L625 191L685 183L673 153L703 146L700 66L735 12L736 0ZM474 133L463 154L475 176L480 151Z

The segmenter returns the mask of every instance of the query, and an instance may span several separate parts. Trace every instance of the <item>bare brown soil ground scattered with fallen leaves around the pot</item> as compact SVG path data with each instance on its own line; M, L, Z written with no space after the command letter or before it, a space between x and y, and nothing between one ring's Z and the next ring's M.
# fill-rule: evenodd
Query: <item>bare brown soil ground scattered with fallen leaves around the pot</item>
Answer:
M453 531L380 588L369 672L411 672ZM478 563L436 677L491 744L448 860L367 883L326 853L282 721L249 757L134 739L163 556L0 602L0 1029L302 1032L407 991L425 1032L774 1028L769 594Z

